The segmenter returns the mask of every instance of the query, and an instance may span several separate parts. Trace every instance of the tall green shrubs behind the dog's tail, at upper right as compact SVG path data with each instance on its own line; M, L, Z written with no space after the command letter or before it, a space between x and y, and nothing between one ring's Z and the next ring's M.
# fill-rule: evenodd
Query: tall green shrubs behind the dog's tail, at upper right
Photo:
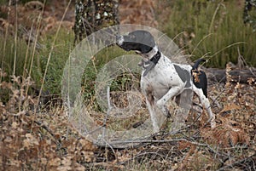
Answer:
M256 32L243 23L243 7L236 1L175 1L164 32L192 54L192 60L206 57L209 66L236 63L240 53L256 66ZM181 33L177 36L178 33ZM238 53L239 52L239 53Z

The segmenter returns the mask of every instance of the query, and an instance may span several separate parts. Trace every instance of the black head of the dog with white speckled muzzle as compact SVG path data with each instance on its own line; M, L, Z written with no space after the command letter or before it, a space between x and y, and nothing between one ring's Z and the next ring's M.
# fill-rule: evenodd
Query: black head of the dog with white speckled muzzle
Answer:
M154 48L154 37L143 30L132 31L128 35L118 36L117 45L126 51L135 50L140 54L147 54Z

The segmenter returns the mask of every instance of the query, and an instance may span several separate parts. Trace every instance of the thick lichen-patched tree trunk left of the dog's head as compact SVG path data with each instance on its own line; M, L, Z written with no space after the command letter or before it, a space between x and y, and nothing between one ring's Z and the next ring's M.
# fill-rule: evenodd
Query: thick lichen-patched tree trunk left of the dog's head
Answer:
M103 27L119 24L118 0L76 0L74 43Z

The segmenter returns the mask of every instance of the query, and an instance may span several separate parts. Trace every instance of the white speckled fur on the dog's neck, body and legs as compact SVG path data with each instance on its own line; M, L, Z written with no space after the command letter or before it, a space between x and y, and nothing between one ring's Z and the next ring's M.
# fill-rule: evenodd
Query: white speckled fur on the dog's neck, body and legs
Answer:
M143 56L143 60L150 60L154 54L156 54L158 48L155 46L148 54L141 54ZM186 82L190 83L189 88L185 88L186 82L178 76L177 71L175 70L174 64L172 61L167 58L164 54L161 54L160 60L154 66L154 68L148 72L148 74L141 77L141 88L143 94L146 97L148 111L150 113L151 121L154 127L154 133L159 131L159 126L156 117L156 109L155 106L159 107L160 110L167 115L165 105L166 102L173 97L181 94L184 89L192 89L195 94L197 94L201 100L201 104L207 109L209 121L211 122L211 127L215 127L215 115L212 113L209 100L203 94L201 88L196 88L192 78L187 80ZM179 65L184 70L190 71L192 66L189 65ZM143 72L146 71L143 69ZM192 77L192 76L191 76Z

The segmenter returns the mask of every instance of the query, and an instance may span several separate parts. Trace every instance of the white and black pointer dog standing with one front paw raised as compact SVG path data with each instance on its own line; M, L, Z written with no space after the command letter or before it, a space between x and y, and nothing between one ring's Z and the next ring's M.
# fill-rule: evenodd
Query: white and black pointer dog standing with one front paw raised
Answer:
M117 45L126 51L134 50L143 57L140 64L143 67L141 88L146 97L154 133L160 130L155 106L158 106L167 117L170 113L166 110L166 102L187 89L199 96L201 104L207 109L211 127L215 127L215 115L207 99L207 76L205 72L197 71L201 61L205 60L197 60L194 66L172 63L160 52L151 33L143 30L117 36ZM198 74L192 74L194 71Z

